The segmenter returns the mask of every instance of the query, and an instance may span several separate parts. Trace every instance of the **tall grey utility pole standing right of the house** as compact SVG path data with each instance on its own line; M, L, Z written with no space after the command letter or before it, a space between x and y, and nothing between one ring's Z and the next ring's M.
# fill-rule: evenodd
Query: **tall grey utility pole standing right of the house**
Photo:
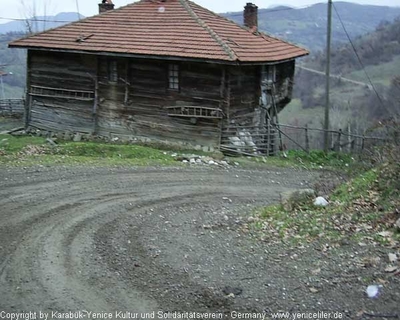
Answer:
M326 36L326 89L325 89L325 122L324 122L324 151L329 150L329 94L331 85L331 38L332 38L332 0L328 0L328 30Z

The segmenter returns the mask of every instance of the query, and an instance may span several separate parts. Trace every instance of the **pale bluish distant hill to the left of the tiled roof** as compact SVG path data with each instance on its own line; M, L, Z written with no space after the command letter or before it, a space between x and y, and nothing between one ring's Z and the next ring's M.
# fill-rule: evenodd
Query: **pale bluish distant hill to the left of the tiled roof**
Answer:
M38 16L34 20L39 21L34 21L31 19L29 23L31 24L34 32L40 32L46 29L59 27L64 24L76 21L78 20L78 17L80 17L81 19L84 18L84 16L78 15L78 13L76 12L62 12L55 16ZM25 21L11 21L0 24L0 34L26 31L27 28Z

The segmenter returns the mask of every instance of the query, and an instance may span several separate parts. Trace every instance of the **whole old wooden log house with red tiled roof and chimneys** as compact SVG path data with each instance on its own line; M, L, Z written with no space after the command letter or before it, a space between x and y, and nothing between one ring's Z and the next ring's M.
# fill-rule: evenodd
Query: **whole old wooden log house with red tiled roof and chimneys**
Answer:
M245 128L265 132L291 99L295 58L308 54L259 32L251 3L244 27L188 0L118 9L107 0L99 11L9 44L28 49L27 126L211 149L246 136L257 145Z

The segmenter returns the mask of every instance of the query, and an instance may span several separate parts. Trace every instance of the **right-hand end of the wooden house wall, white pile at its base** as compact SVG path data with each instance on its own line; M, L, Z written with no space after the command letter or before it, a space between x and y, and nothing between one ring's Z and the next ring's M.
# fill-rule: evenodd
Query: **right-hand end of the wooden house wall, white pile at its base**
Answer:
M277 113L291 100L294 61L230 67L222 148L229 152L274 154ZM271 121L271 122L269 122Z

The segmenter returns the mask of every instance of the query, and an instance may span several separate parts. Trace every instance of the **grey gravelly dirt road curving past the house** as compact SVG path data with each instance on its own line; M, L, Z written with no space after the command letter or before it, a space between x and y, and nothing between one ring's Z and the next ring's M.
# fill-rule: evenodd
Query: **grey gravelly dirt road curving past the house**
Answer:
M368 300L364 285L337 274L345 261L312 246L282 251L243 231L254 207L316 176L290 169L3 168L0 311L88 310L114 318L220 311L227 319L235 310L328 310L353 319L360 310L393 313L398 282L384 300ZM322 280L310 273L316 264Z

